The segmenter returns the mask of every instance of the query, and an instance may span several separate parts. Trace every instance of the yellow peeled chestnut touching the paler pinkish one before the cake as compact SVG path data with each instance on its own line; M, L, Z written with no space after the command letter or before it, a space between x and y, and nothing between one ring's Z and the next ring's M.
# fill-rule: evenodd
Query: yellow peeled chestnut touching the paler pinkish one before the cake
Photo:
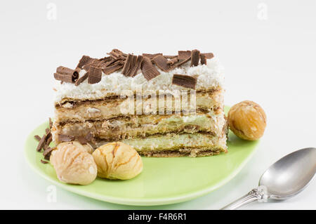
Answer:
M143 171L140 155L125 143L107 143L98 147L92 155L100 178L128 180Z

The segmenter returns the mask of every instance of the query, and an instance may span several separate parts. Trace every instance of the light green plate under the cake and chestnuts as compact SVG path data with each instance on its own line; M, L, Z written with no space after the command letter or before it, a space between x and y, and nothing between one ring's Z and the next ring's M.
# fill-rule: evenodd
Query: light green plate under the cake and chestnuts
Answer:
M225 108L228 109L228 108ZM34 135L43 136L48 122L30 133L25 143L29 165L42 177L65 190L116 204L152 206L185 202L206 195L228 183L254 154L258 141L246 141L229 133L228 153L213 157L147 158L144 169L131 180L97 178L90 185L61 183L51 164L42 164Z

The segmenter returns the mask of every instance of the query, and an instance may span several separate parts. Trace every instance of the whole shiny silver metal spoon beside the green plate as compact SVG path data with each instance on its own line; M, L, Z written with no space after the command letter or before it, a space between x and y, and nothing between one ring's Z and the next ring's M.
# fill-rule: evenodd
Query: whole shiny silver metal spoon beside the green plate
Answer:
M250 202L284 200L297 195L310 183L316 172L316 148L308 147L288 154L269 167L261 176L259 186L222 210L237 209Z

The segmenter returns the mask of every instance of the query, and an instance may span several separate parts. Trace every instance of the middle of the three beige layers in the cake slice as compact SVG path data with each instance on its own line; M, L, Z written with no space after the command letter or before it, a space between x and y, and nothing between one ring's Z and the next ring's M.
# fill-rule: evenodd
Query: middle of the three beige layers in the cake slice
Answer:
M85 121L54 126L56 134L86 136L92 133L96 138L121 140L165 133L208 132L221 136L226 125L224 114L148 115L118 118L105 121Z

